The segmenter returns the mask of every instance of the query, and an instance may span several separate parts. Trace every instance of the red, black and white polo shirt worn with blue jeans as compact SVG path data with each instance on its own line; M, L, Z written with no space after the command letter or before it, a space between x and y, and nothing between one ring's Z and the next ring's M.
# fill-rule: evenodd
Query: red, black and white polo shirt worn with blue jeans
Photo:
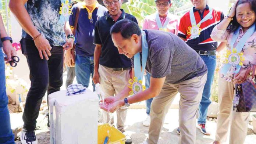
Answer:
M208 5L206 6L205 10L201 13L200 10L197 10L193 7L194 15L196 23L198 24L209 12ZM199 37L196 39L189 38L191 35L187 34L187 30L191 25L189 11L184 14L179 23L179 31L178 36L182 37L186 40L186 43L192 47L194 50L203 50L203 51L213 51L217 49L217 42L212 40L210 35L211 31L213 30L214 26L220 23L224 19L224 14L221 11L217 11L213 9L213 13L210 19L203 22L200 25L201 33Z

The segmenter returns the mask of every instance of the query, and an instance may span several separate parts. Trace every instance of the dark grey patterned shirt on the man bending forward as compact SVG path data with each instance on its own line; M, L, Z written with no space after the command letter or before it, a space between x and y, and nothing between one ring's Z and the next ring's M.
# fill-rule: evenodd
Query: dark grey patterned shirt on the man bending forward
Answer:
M166 76L165 82L175 84L207 72L202 58L178 36L159 30L145 32L149 44L146 71L153 78ZM134 58L131 62L134 67Z

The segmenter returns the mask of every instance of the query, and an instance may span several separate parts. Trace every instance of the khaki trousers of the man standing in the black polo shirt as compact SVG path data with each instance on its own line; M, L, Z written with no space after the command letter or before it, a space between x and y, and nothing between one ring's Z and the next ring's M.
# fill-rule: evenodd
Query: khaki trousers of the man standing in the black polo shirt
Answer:
M105 97L116 96L120 93L130 78L129 69L124 71L113 71L110 68L99 65L100 86L105 93ZM125 120L127 108L125 106L117 109L117 129L125 132ZM103 111L104 123L109 123L110 114ZM111 118L111 124L114 124L114 118Z

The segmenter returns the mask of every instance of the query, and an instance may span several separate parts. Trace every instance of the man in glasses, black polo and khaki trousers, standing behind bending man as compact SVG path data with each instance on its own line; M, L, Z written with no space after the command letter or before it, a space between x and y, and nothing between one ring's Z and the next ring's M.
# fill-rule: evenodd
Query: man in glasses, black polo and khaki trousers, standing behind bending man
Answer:
M105 0L104 5L108 12L97 20L95 25L94 44L94 73L93 82L100 83L105 97L114 96L121 92L130 78L131 60L125 55L118 53L117 48L111 39L110 28L115 22L122 19L130 19L138 24L133 15L127 14L121 9L123 0ZM127 108L121 107L117 110L117 128L125 132ZM113 117L107 112L103 112L103 118L106 123Z

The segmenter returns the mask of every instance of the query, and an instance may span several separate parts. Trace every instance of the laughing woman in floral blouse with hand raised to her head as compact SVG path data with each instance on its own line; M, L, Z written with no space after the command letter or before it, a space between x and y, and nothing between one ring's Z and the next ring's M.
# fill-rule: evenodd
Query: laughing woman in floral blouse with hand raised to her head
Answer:
M229 127L230 144L243 144L245 141L249 112L232 111L232 100L235 84L243 83L245 76L246 81L249 80L251 76L246 71L252 71L252 65L256 64L255 19L256 1L238 0L231 8L230 14L215 26L211 33L213 40L227 41L226 60L219 77L219 112L214 144L226 141Z

